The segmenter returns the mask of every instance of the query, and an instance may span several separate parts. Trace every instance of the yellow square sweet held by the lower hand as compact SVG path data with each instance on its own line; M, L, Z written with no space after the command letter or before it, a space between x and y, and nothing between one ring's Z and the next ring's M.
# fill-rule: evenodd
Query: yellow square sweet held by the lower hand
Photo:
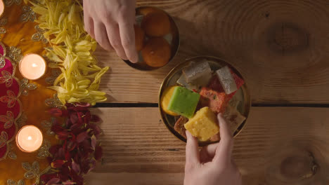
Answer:
M184 126L188 132L202 142L219 132L216 115L209 107L200 109Z

